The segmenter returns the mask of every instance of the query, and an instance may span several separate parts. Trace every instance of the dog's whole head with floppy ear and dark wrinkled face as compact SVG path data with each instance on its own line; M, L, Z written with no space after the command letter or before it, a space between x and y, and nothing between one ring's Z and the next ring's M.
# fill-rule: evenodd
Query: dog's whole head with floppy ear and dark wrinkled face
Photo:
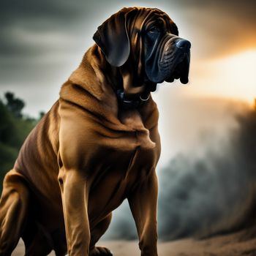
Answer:
M190 42L178 37L176 24L161 10L124 8L99 26L94 41L110 65L124 74L132 70L133 86L178 78L188 83Z

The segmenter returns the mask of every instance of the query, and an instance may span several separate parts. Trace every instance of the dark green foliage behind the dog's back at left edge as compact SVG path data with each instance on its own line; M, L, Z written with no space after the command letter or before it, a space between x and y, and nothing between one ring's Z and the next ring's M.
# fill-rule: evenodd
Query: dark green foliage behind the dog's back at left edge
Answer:
M5 173L12 169L18 151L37 120L22 115L25 103L7 92L4 103L0 99L0 192Z

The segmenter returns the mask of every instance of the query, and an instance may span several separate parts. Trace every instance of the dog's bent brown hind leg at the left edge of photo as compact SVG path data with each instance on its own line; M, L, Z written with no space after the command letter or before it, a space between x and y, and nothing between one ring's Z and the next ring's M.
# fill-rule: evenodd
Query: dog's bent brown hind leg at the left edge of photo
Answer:
M9 256L23 231L29 204L29 189L22 174L10 170L4 178L0 200L0 256Z

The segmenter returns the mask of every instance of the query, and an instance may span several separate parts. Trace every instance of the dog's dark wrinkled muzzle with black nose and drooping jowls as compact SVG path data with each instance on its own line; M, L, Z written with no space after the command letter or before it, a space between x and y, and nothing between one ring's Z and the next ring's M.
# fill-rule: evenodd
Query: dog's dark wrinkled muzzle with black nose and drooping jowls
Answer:
M165 42L159 60L159 72L163 80L171 83L180 78L181 83L188 83L190 48L190 42L179 37L171 37Z

